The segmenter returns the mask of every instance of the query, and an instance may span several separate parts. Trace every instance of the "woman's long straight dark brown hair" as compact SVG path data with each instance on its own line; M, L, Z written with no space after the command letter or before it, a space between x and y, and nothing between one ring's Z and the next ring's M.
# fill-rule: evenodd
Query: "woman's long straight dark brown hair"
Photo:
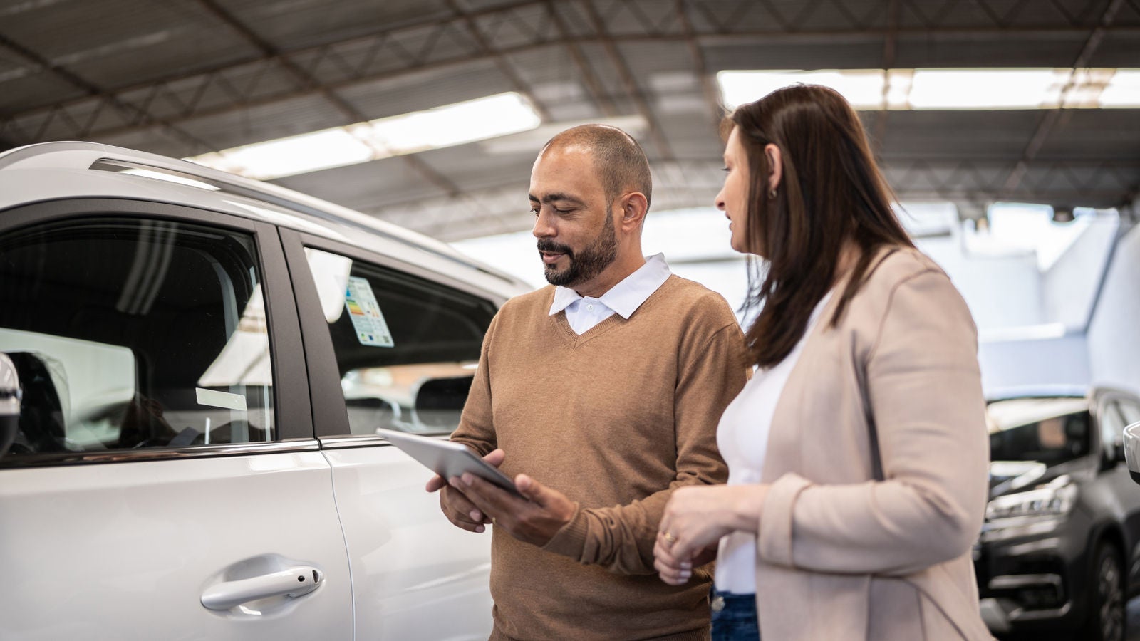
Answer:
M893 193L874 163L855 111L837 91L797 84L736 107L725 120L748 156L751 178L749 246L766 261L749 262L746 332L754 363L779 364L803 338L812 310L836 282L848 240L860 250L830 324L836 326L862 286L877 250L914 246L890 209ZM783 177L768 195L765 145L780 148Z

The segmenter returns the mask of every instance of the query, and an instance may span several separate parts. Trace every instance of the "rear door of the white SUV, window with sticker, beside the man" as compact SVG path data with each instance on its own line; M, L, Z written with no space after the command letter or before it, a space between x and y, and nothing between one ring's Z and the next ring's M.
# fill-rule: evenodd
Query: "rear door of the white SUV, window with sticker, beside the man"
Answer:
M459 281L283 230L367 639L486 639L490 535L461 530L431 472L376 428L446 438L458 424L496 305ZM502 302L502 301L496 301Z

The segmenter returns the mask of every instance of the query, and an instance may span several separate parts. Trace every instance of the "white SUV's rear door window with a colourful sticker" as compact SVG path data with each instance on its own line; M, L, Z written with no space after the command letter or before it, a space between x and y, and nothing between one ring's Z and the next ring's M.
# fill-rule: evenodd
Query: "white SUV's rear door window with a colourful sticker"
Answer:
M402 271L306 249L353 435L450 433L495 307Z

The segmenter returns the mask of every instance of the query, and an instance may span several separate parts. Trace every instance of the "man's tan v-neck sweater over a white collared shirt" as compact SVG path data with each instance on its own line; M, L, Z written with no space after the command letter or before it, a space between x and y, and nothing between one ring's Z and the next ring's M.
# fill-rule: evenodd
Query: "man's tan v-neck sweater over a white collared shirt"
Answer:
M720 295L677 276L583 335L548 315L553 297L499 310L453 436L502 447L504 472L579 505L544 549L494 528L492 639L707 639L708 568L666 585L653 542L674 488L727 477L716 425L747 379L740 326Z

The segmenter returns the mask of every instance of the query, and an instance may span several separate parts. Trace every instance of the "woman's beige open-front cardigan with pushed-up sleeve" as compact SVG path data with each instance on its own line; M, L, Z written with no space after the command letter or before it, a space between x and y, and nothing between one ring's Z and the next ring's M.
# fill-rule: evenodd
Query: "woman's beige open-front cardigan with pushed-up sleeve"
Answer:
M757 536L764 641L991 638L970 560L988 462L977 331L929 258L877 260L838 327L844 284L831 297L773 416Z

